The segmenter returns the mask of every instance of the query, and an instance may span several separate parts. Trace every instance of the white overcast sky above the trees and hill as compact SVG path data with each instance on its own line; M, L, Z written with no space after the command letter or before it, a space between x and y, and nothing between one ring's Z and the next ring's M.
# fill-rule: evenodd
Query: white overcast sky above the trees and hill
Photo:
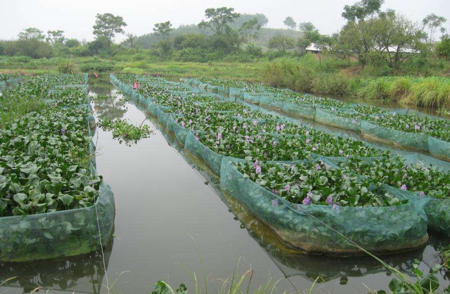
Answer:
M291 16L298 22L312 22L323 34L339 30L344 5L353 0L0 0L0 39L16 38L28 27L44 32L63 30L69 38L92 40L97 13L120 15L128 24L126 32L138 35L152 32L155 23L170 20L175 27L199 23L207 8L233 7L238 13L263 13L268 27L283 28ZM450 26L449 0L385 0L382 9L395 9L413 21L435 13ZM440 35L436 32L436 36ZM123 36L116 37L116 41Z

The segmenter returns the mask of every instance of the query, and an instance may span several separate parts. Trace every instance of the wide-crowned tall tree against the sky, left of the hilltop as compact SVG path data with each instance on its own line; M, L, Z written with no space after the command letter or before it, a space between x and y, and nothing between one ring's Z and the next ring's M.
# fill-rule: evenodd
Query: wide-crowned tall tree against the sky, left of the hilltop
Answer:
M232 23L240 14L234 13L234 8L208 8L205 10L205 17L208 21L202 20L199 28L210 28L216 35L222 35L228 23Z

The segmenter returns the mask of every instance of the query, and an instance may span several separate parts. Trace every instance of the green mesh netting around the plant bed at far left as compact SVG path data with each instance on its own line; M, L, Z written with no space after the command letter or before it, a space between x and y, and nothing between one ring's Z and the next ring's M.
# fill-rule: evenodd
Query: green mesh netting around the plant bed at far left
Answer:
M87 96L87 86L63 85L53 87L50 91L57 91L59 87L86 89L86 103L71 107L88 109L90 114L86 118L86 126L92 138L95 133L95 118L91 114L92 107ZM89 142L89 148L93 155L89 170L91 173L97 173L95 145L92 139ZM113 192L111 187L102 181L96 202L91 207L2 217L0 218L0 261L25 262L53 259L99 250L109 240L114 216Z

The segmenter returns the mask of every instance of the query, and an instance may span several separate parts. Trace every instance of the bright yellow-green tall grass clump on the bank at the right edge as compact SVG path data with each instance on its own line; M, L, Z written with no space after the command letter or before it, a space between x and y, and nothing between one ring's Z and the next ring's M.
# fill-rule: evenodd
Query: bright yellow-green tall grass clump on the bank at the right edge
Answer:
M450 79L427 77L411 85L408 96L401 103L439 108L450 105Z

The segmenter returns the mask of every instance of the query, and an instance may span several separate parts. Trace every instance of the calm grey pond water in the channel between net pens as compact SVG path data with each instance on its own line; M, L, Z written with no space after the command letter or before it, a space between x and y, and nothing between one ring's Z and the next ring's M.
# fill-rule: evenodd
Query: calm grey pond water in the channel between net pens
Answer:
M90 90L109 94L109 83ZM389 274L371 257L332 258L308 256L281 244L272 231L242 204L218 188L217 178L197 168L173 138L136 106L118 97L93 103L97 120L109 115L147 124L154 134L128 147L97 128L97 170L114 192L116 216L113 238L103 252L31 263L0 264L1 293L148 293L158 280L172 286L185 283L195 292L183 265L196 272L201 286L205 273L210 291L230 277L253 269L250 290L268 276L279 292L302 292L321 276L317 293L361 293L388 289ZM428 273L439 263L437 249L448 244L432 236L428 245L414 251L382 256L389 264L410 272L415 259ZM240 260L239 260L240 259ZM104 268L106 267L106 274ZM441 289L449 276L437 273ZM346 282L346 280L348 280ZM322 280L320 280L322 281ZM203 290L204 292L204 290Z

